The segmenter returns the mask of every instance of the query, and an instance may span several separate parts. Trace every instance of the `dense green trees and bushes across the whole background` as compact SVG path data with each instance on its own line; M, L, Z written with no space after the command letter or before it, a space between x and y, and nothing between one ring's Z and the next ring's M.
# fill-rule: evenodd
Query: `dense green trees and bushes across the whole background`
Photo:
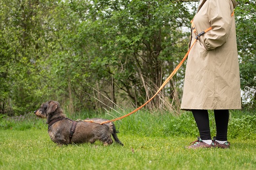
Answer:
M253 110L255 1L239 2L241 85L252 99L244 108ZM187 51L187 4L0 1L0 113L24 115L48 100L71 114L143 104ZM166 101L158 96L147 109L172 110L170 102L179 108L184 68L164 88Z

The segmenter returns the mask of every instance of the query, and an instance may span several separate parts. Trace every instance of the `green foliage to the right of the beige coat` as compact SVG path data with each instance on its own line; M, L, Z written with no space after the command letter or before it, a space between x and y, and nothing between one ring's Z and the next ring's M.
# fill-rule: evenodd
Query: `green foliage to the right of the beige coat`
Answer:
M255 36L256 36L256 4L255 0L239 1L236 8L237 43L240 56L241 88L245 91L244 105L247 109L256 108L256 60L255 60Z

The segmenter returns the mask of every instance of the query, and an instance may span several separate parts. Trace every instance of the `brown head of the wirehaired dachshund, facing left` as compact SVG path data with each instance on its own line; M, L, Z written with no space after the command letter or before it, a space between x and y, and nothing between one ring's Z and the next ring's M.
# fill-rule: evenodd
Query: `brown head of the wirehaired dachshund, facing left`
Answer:
M35 115L41 118L47 118L59 107L59 103L56 101L48 101L43 103L39 109L34 111Z

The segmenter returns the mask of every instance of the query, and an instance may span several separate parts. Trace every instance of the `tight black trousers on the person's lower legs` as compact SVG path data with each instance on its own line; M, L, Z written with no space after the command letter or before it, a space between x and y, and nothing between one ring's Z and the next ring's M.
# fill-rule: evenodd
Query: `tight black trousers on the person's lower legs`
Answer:
M197 123L202 140L211 140L209 116L207 110L191 110ZM216 123L216 140L227 140L228 110L214 110Z

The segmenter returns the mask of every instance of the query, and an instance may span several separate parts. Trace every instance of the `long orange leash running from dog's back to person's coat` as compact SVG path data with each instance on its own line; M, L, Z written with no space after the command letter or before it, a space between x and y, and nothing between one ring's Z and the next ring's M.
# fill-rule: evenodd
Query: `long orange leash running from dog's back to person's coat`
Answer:
M234 11L232 12L231 17L232 17L233 15L234 15ZM196 16L196 15L195 15L195 16ZM194 16L194 18L195 18L195 16ZM120 119L122 119L122 118L124 118L124 117L127 117L127 116L129 116L129 115L131 115L131 114L137 112L137 111L140 110L142 107L144 107L147 103L149 103L150 101L152 101L152 100L155 98L155 96L162 90L162 88L170 81L170 79L172 79L172 78L174 77L174 75L176 74L176 72L178 71L178 69L181 67L181 65L183 64L183 62L186 60L186 58L187 58L187 56L188 56L188 54L189 54L191 48L195 45L195 43L197 42L198 38L199 38L200 36L204 35L206 32L208 32L208 31L210 31L210 30L212 29L211 27L209 27L208 29L204 30L203 32L197 34L197 33L196 33L196 28L195 28L194 23L193 23L194 18L190 21L190 22L191 22L191 27L192 27L194 33L196 34L196 37L195 37L194 42L192 43L192 45L190 45L189 50L187 51L187 53L185 54L185 56L183 57L183 59L181 60L181 62L177 65L177 67L173 70L173 72L169 75L169 77L163 82L163 84L161 85L161 87L157 90L157 92L155 93L155 95L153 95L150 100L148 100L146 103L144 103L143 105L141 105L140 107L138 107L137 109L135 109L134 111L132 111L132 112L130 112L130 113L128 113L128 114L125 114L125 115L123 115L123 116L121 116L121 117L117 117L117 118L114 118L114 119L111 119L111 120L107 120L107 121L102 122L102 123L95 122L95 121L93 121L93 120L82 120L82 121L83 121L83 122L97 123L97 124L100 124L100 125L103 125L103 124L106 124L106 123L110 123L110 122L115 122L116 120L120 120Z

